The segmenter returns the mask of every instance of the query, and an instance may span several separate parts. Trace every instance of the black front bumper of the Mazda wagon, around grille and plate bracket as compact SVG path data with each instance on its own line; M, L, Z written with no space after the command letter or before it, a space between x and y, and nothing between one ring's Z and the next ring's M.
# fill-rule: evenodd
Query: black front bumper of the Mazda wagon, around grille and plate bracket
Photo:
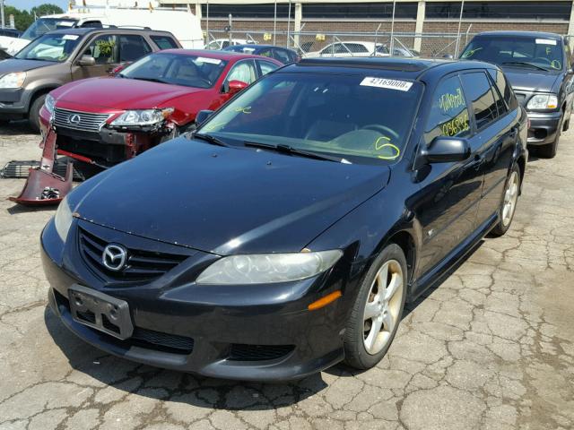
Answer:
M198 286L193 268L203 270L217 257L193 251L185 262L152 282L105 286L80 253L69 251L78 249L74 228L64 251L53 221L41 236L49 305L70 331L96 348L151 366L250 381L296 379L344 358L350 294L316 311L307 309L317 298L342 288L344 271L337 268L339 263L327 274L289 284ZM103 231L95 225L90 228ZM124 242L129 235L112 236L115 242ZM68 288L74 284L125 300L133 337L118 340L75 321L68 302Z

